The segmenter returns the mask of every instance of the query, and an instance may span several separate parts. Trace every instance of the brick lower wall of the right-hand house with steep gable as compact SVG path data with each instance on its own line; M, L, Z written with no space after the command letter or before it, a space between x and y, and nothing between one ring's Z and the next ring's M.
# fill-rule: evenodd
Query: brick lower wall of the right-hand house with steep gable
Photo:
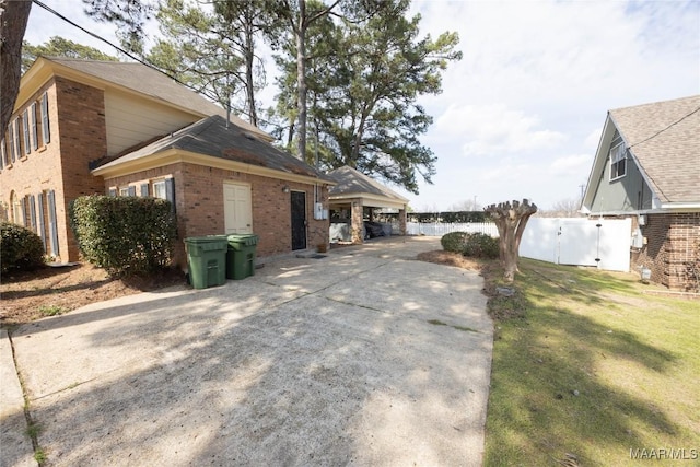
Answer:
M641 231L646 245L632 253L633 270L644 266L651 269L653 282L672 290L695 290L697 283L688 275L687 262L698 255L700 212L648 214Z

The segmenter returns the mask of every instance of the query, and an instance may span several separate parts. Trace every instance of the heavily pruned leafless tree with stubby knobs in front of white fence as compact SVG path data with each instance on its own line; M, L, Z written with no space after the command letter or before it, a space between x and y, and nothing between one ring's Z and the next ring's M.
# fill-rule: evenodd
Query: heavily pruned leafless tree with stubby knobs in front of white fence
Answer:
M495 222L499 230L499 246L501 264L505 270L504 277L509 282L515 279L517 272L517 259L520 257L518 249L521 247L521 238L525 232L525 225L529 218L537 212L537 206L530 205L527 199L523 202L513 201L500 202L491 205L485 209Z

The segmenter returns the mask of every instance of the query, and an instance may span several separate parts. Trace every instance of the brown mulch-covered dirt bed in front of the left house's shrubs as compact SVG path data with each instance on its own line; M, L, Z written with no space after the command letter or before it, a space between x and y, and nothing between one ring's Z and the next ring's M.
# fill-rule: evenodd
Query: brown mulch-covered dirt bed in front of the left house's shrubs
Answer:
M3 275L0 283L0 326L20 325L95 302L185 284L183 272L170 269L150 277L125 279L112 278L104 269L89 264L11 272Z

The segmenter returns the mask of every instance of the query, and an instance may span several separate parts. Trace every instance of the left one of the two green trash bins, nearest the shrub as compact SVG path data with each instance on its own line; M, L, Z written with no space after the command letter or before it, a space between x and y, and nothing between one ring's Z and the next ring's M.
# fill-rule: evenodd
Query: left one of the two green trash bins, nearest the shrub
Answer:
M226 282L226 237L222 235L185 238L189 281L195 289Z

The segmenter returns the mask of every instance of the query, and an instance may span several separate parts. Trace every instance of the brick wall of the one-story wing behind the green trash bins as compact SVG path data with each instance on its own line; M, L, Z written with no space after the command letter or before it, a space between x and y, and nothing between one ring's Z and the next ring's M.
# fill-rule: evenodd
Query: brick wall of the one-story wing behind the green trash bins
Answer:
M314 185L287 182L277 178L225 171L202 165L177 163L124 177L108 178L105 189L124 187L159 177L175 179L175 205L179 238L176 242L175 262L186 262L184 240L190 236L223 234L225 229L223 208L224 182L250 185L253 203L253 232L258 235L256 253L258 257L273 256L291 252L291 199L282 188L306 192L306 243L308 248L328 244L328 220L314 220ZM328 191L318 188L319 200L328 207ZM137 188L137 194L139 192Z

